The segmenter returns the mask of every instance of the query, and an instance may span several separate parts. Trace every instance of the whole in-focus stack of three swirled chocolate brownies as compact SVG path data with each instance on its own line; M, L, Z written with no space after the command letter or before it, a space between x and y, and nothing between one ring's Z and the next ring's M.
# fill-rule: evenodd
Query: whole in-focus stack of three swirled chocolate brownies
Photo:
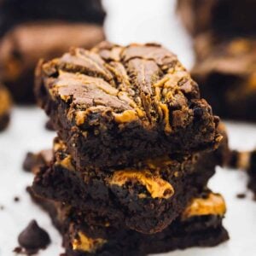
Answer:
M58 137L32 197L67 255L146 255L228 239L224 129L182 64L159 44L103 42L40 61L36 96ZM220 147L218 147L220 145Z

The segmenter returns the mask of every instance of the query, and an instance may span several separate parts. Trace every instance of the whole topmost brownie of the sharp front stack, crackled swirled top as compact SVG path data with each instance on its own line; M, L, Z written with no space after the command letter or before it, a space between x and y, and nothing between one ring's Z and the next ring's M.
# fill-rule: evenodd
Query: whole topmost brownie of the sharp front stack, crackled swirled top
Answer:
M218 117L159 44L71 49L36 71L38 103L78 169L217 148Z

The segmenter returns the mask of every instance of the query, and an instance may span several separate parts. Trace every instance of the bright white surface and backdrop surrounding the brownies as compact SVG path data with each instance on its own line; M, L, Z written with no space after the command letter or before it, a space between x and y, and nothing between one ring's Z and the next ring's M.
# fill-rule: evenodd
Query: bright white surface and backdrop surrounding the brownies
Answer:
M108 39L119 44L160 42L172 49L186 67L192 67L194 56L189 37L174 14L174 0L105 0L108 11ZM49 217L32 204L26 186L32 175L23 172L21 164L27 151L50 148L54 132L44 129L46 117L38 108L15 108L9 130L0 134L0 256L14 255L17 236L32 219L49 231L51 245L39 255L55 256L63 252L61 237ZM227 123L232 148L256 146L256 125ZM243 172L218 168L210 187L224 195L228 212L224 226L230 241L213 248L192 248L162 255L170 256L254 256L256 255L256 202L246 188ZM246 193L246 199L236 195ZM19 196L20 202L14 202ZM132 256L132 255L131 255Z

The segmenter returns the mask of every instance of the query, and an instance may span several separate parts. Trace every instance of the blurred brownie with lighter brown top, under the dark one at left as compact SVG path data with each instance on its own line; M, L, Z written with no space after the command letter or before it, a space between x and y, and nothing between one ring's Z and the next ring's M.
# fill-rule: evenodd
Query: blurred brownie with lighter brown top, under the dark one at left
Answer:
M16 102L33 102L34 69L40 58L52 59L71 46L91 48L104 38L102 26L96 24L60 20L21 23L0 39L0 77Z

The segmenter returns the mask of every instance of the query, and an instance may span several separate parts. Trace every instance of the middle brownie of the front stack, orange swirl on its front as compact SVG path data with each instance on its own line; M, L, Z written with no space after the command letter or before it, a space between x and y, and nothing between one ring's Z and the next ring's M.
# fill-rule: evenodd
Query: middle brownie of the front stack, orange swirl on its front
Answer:
M91 215L107 216L114 225L154 233L166 228L198 189L207 185L215 166L228 161L227 136L224 125L219 127L225 139L214 152L166 154L125 169L84 168L84 172L75 169L66 144L55 138L53 160L43 161L49 164L36 172L32 189Z

